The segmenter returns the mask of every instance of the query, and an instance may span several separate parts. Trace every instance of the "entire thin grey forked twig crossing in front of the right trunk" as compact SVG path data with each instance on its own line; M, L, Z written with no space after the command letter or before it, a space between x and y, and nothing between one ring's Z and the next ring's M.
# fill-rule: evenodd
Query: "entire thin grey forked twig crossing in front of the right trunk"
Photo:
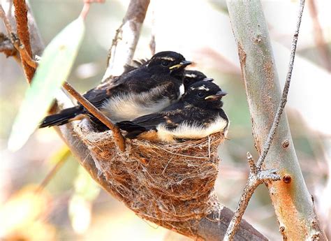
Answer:
M297 18L295 34L293 35L292 48L290 51L290 63L288 65L288 73L286 76L286 82L285 82L283 94L281 95L281 102L279 103L279 107L278 107L276 115L274 117L274 122L272 123L270 133L269 133L267 140L265 142L265 145L263 147L263 152L260 155L256 165L253 162L253 158L252 158L251 154L249 152L247 153L247 160L249 162L249 167L250 167L249 180L247 181L247 184L244 188L242 196L240 197L240 201L237 205L237 210L235 211L235 214L233 215L233 219L231 219L231 221L230 221L230 224L226 231L226 235L224 235L223 240L233 240L233 238L235 236L235 232L237 231L237 228L239 227L240 221L242 220L242 216L244 215L244 212L247 208L249 200L251 199L251 196L253 195L253 192L255 191L256 187L258 187L258 185L260 185L266 181L276 181L276 180L281 179L281 177L275 173L274 169L273 170L261 170L261 167L263 165L263 161L265 160L265 157L267 156L267 152L270 149L272 140L274 139L274 136L277 131L277 126L279 125L279 121L281 119L281 114L283 113L286 102L287 102L288 89L290 87L290 78L292 76L292 71L293 71L295 50L297 48L297 38L299 36L299 29L300 29L300 23L301 23L303 10L304 10L304 0L300 0L299 15Z

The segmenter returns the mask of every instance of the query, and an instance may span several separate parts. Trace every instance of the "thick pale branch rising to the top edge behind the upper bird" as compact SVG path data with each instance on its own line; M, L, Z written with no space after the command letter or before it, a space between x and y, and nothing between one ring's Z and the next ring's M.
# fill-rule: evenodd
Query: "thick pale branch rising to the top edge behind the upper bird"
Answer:
M121 75L124 66L131 64L148 6L149 0L131 0L128 4L123 23L117 29L112 46L108 50L108 64L103 82L112 76Z

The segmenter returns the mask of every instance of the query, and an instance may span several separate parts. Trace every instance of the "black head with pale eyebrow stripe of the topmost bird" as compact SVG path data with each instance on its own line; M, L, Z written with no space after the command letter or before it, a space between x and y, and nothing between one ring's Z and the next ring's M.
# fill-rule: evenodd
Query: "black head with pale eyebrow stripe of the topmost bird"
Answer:
M184 68L191 64L182 54L172 51L158 52L147 63L149 71L154 73L171 74L182 78Z

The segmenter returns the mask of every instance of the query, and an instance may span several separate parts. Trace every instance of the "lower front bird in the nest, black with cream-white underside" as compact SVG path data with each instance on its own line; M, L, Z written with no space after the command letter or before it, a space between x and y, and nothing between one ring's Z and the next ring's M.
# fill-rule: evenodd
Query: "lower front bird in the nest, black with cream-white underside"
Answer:
M229 119L222 109L226 92L213 82L199 81L189 87L177 103L161 112L118 122L126 138L154 143L178 143L221 132L226 136Z

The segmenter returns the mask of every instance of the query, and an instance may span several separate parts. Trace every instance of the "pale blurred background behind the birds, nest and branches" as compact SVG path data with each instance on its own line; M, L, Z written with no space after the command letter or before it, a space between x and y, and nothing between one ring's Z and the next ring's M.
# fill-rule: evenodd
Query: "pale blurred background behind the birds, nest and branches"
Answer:
M122 23L128 0L93 4L87 31L69 82L86 92L101 81L108 48ZM78 17L82 1L30 0L45 43ZM284 85L298 1L262 1L281 86ZM331 1L307 0L300 28L286 113L309 192L327 232L331 212ZM4 31L0 23L0 31ZM173 50L196 63L228 92L228 140L219 147L216 191L235 209L249 173L246 153L257 158L240 76L237 48L225 1L152 0L135 59ZM22 68L0 54L0 240L186 240L135 216L100 189L78 166L53 129L37 130L20 151L7 147L11 124L27 89ZM50 174L50 173L53 173ZM51 178L47 178L51 177ZM44 187L44 188L41 188ZM38 195L36 195L38 189ZM281 240L267 189L261 185L244 214L270 240Z

